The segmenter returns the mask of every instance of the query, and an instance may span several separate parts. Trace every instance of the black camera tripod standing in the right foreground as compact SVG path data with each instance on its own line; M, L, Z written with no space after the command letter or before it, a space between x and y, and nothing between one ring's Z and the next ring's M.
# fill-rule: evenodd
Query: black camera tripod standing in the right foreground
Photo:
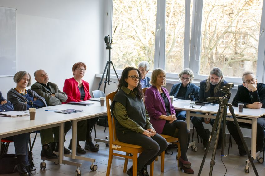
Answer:
M222 90L222 91L224 91L224 90ZM243 134L241 132L239 123L238 123L237 118L236 118L235 113L234 113L233 106L230 103L228 103L228 100L231 97L230 90L229 90L229 92L226 92L226 93L227 94L224 97L210 97L210 98L207 98L207 102L213 102L213 101L219 100L218 101L219 109L218 109L218 112L217 112L217 115L216 115L216 119L214 121L214 125L213 125L212 132L211 132L211 135L210 135L210 138L209 138L206 150L205 150L205 154L204 154L203 159L202 159L202 163L200 165L200 170L199 170L198 176L200 176L200 174L201 174L201 171L202 171L206 156L207 156L207 154L209 152L209 148L210 148L210 145L211 145L211 142L212 142L212 137L213 137L214 131L216 129L217 129L216 139L215 139L215 142L214 142L214 150L213 150L213 154L212 154L212 158L211 158L211 162L210 162L211 166L210 166L209 176L211 176L212 173L213 173L213 167L215 165L215 161L214 160L215 160L215 155L216 155L216 150L217 150L217 145L218 145L218 138L219 138L219 134L220 134L221 128L222 128L222 151L221 151L221 156L225 156L224 155L224 148L225 148L225 125L226 125L227 107L229 107L229 110L230 110L230 112L232 114L232 117L234 119L234 123L236 125L237 131L239 132L239 136L241 138L241 141L243 143L245 151L246 151L246 153L248 155L248 159L249 159L249 161L250 161L250 163L251 163L251 165L253 167L254 173L255 173L256 176L258 176L257 169L256 169L256 167L255 167L255 165L253 163L254 158L251 156L250 152L248 151L248 146L247 146L247 144L245 142L245 139L243 137ZM223 122L223 127L221 127L222 126L222 122Z

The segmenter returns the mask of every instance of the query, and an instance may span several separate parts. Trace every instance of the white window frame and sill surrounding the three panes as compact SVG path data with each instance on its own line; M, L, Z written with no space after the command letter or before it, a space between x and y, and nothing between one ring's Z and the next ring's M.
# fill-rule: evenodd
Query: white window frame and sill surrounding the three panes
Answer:
M184 29L184 68L190 68L194 72L195 80L201 81L207 79L208 75L199 74L200 60L200 37L201 37L201 22L203 0L193 0L191 33L190 33L190 5L191 0L185 0L185 29ZM107 25L104 28L105 34L112 36L112 6L113 0L107 1L106 11L107 15L104 23ZM165 15L166 15L166 0L157 0L157 14L156 14L156 34L155 34L155 55L154 55L154 69L165 69ZM191 38L190 38L191 34ZM105 45L104 45L105 47ZM104 48L105 49L105 48ZM106 49L105 49L106 50ZM259 82L265 82L265 0L263 0L262 16L260 24L260 37L258 43L258 60L256 78ZM108 51L104 52L103 61L108 61ZM115 69L117 74L122 73L122 69ZM111 68L111 74L114 74ZM179 73L167 73L167 79L178 80ZM151 72L147 74L150 76ZM227 82L241 84L241 78L224 77Z

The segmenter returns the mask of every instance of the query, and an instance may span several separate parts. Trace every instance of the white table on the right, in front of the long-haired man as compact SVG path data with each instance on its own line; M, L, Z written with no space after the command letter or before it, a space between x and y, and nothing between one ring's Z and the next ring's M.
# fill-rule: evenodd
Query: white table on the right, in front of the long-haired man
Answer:
M186 111L186 122L187 127L190 129L190 117L206 117L206 118L213 118L215 119L216 116L213 115L205 115L205 114L195 114L192 112L202 112L202 113L208 113L208 114L217 114L217 111L219 109L219 105L211 106L211 105L205 105L201 106L201 108L191 108L189 107L191 101L187 100L176 100L173 102L173 106L175 109L179 110L185 110ZM198 106L198 105L197 105ZM250 109L250 108L244 108L243 112L238 111L238 107L234 107L234 113L236 117L238 118L238 122L245 122L251 124L251 155L254 159L256 159L256 156L259 156L260 151L256 153L256 140L257 140L257 118L265 115L265 109ZM227 115L231 115L229 108L227 110ZM233 118L227 117L226 120L233 121ZM249 161L246 160L246 166L248 166Z

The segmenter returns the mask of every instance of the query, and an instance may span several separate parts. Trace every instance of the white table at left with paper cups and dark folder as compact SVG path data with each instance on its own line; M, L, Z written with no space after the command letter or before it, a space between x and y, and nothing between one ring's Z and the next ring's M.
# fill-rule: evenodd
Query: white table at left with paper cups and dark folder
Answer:
M50 111L45 111L50 110ZM24 111L28 112L28 111ZM77 121L85 120L88 118L93 118L95 115L91 113L84 113L84 112L77 112L72 114L63 114L63 113L55 113L52 109L48 108L40 108L36 110L36 116L35 120L30 120L29 116L23 116L23 117L16 117L16 118L10 118L10 117L0 117L0 140L1 138L16 135L16 134L22 134L22 133L28 133L35 130L41 130L46 128L51 128L55 126L60 127L60 135L59 135L59 163L64 164L70 164L75 165L77 167L80 167L81 164L70 162L67 160L63 160L63 146L64 146L64 122L66 121L73 121L73 131L76 132L77 129ZM80 159L80 156L76 156L76 133L74 135L73 132L73 144L72 145L72 158ZM74 142L75 141L75 142ZM84 157L82 158L84 159ZM87 159L85 160L95 162L95 159ZM54 161L54 160L53 160ZM93 164L93 163L92 163ZM77 168L78 171L79 168Z

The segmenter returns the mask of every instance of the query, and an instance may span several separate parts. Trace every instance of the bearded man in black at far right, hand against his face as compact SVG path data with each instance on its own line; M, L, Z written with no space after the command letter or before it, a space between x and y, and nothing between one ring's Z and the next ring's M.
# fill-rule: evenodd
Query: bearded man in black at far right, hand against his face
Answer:
M265 84L258 83L252 72L246 71L242 76L243 85L238 86L237 93L232 101L232 105L238 107L239 103L244 104L244 108L260 109L265 108ZM251 124L239 122L239 125L248 126L251 128ZM226 121L226 126L229 133L236 141L239 148L239 155L246 155L246 151L243 147L243 143L240 139L239 133L236 129L234 121ZM257 119L257 147L256 151L263 151L264 143L264 127L265 117L262 116Z

